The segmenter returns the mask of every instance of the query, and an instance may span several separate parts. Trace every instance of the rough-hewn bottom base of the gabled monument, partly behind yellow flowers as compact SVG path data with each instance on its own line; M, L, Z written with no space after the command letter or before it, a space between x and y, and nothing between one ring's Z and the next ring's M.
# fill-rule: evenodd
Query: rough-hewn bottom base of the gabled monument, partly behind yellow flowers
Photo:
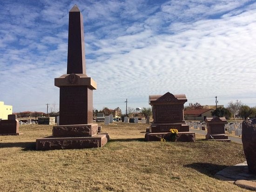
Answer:
M176 141L195 142L195 132L178 132ZM170 132L147 132L145 134L146 141L160 141L161 138L171 140Z

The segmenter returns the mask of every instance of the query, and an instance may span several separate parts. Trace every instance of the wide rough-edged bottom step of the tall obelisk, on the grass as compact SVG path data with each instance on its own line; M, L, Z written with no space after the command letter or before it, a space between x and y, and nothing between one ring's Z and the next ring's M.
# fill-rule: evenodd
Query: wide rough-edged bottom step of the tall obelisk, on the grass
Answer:
M103 147L109 140L108 133L99 133L92 137L46 137L36 139L36 150L84 149Z

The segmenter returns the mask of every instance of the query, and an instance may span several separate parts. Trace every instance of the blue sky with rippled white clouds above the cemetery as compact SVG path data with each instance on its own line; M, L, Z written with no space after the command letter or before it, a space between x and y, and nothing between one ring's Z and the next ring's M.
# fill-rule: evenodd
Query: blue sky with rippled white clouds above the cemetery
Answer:
M59 110L68 12L84 22L94 109L150 107L149 95L256 106L255 0L0 1L0 101L13 112Z

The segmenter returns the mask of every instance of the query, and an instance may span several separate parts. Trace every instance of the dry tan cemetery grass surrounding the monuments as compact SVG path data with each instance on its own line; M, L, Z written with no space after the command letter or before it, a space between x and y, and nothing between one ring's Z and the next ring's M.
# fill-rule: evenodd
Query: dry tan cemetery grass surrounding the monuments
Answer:
M22 125L19 136L0 136L0 191L245 192L215 173L245 161L243 146L206 141L144 142L147 124L102 126L102 148L35 151L52 126Z

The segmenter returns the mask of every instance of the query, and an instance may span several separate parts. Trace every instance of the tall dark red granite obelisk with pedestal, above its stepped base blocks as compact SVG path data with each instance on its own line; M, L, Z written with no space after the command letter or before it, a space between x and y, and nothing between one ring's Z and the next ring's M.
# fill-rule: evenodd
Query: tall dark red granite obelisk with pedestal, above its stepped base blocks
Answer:
M83 17L75 5L69 12L67 74L55 79L60 87L60 125L93 123L93 89L86 75Z

